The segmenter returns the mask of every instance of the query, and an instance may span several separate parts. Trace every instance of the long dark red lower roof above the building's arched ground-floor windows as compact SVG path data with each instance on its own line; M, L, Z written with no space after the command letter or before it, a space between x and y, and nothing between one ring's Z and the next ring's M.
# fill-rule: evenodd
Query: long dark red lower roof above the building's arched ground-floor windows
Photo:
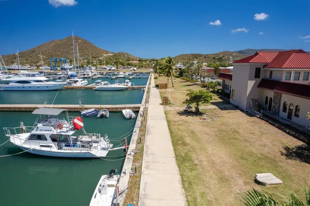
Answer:
M262 79L257 85L257 88L268 89L295 97L310 99L310 84L298 84L272 79Z

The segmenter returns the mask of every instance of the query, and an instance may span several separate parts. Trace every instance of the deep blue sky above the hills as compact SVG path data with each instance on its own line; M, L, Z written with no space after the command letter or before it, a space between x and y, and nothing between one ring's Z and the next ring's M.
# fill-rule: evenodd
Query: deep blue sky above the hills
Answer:
M310 1L0 0L0 54L63 39L72 30L102 49L141 58L247 48L310 51L306 8ZM221 25L210 24L216 20Z

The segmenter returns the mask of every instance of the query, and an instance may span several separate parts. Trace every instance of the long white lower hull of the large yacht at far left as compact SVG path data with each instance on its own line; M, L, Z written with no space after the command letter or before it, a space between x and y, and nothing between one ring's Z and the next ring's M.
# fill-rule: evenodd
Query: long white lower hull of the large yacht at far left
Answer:
M2 84L0 85L0 90L7 91L48 91L48 90L58 90L64 87L65 83L61 84L51 84L51 85L15 85L15 84Z

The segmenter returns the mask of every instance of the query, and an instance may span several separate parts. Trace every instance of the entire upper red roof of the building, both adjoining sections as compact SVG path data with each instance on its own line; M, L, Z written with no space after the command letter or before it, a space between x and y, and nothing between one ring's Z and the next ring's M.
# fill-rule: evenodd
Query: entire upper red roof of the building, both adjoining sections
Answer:
M256 52L254 55L233 63L268 64L264 68L310 68L310 54L302 49L282 52Z

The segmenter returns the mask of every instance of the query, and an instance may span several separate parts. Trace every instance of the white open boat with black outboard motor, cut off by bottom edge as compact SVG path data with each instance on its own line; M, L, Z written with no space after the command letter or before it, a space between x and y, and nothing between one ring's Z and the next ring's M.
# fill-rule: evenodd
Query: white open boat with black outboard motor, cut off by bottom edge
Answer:
M102 175L89 206L114 206L118 202L117 182L119 175L114 175L116 169L112 169L109 175Z

